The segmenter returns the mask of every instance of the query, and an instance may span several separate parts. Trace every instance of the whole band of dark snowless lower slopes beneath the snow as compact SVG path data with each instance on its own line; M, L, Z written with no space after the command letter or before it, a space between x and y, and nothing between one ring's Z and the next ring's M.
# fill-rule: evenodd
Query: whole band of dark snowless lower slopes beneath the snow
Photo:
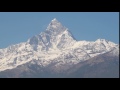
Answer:
M105 53L76 65L63 65L55 71L56 63L47 67L21 65L0 72L3 78L119 78L119 57Z

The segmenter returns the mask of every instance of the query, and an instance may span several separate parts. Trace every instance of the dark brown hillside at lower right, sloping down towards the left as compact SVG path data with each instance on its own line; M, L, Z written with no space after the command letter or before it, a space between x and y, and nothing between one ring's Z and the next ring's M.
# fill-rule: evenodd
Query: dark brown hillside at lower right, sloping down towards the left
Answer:
M109 53L93 57L70 68L68 77L119 78L119 57Z

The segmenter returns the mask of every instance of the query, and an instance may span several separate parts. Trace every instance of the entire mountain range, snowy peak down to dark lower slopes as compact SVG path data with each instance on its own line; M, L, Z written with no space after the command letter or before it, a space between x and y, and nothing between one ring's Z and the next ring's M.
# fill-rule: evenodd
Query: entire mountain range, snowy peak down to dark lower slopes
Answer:
M27 42L0 49L0 77L118 76L118 44L105 39L77 41L57 19Z

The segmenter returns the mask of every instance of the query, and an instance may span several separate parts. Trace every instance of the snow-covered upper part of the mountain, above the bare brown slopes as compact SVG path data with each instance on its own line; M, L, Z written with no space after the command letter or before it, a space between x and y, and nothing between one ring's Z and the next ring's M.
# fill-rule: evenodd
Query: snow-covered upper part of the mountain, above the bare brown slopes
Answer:
M52 62L57 62L58 67L61 64L76 64L114 49L113 55L118 55L118 47L105 39L77 41L68 28L53 19L44 32L33 36L27 42L0 49L0 71L28 62L37 62L43 67Z

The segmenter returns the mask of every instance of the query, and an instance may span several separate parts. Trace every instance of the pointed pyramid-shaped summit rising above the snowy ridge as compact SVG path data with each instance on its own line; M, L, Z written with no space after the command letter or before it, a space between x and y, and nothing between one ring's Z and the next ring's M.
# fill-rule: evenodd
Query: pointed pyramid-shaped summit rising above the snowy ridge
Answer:
M37 50L37 48L41 50L49 50L52 48L66 48L73 45L75 40L68 29L55 18L50 22L44 32L33 36L28 42L33 46L34 50Z

